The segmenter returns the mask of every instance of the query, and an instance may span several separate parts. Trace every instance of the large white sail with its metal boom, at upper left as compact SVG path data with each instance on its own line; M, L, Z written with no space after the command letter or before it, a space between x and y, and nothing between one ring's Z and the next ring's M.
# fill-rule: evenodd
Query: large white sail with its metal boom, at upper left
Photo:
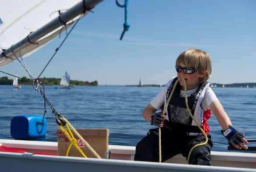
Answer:
M101 1L84 3L92 8ZM60 22L58 10L67 27ZM0 53L0 67L16 60L15 55L26 57L42 48L81 17L83 10L81 0L1 0L0 47L6 50Z

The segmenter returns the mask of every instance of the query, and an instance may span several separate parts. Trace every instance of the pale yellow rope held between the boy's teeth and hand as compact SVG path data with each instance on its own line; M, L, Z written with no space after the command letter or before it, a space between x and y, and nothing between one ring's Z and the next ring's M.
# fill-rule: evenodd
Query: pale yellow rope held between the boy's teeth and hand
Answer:
M170 94L170 96L169 96L169 98L168 98L168 100L167 100L167 102L166 102L166 104L165 104L165 107L164 107L164 110L163 110L162 114L165 114L165 113L166 113L168 104L170 103L172 94L173 94L173 92L174 92L174 90L175 90L175 87L176 87L177 83L179 82L179 80L183 80L183 82L184 82L185 103L186 103L186 107L187 107L187 110L188 110L188 112L189 112L189 115L190 115L190 117L192 117L193 121L196 123L196 126L200 129L200 131L202 131L202 133L203 133L203 135L204 135L204 137L205 137L205 141L204 141L203 143L196 144L196 145L193 146L193 148L190 149L189 155L188 155L188 159L187 159L187 164L189 164L189 158L190 158L190 155L191 155L192 151L194 150L194 148L196 148L197 146L203 146L203 145L207 144L207 142L208 142L208 137L207 137L207 135L205 134L205 132L203 131L203 129L201 128L200 124L199 124L199 123L196 121L196 119L193 117L193 114L191 113L191 110L189 109L188 96L187 96L187 83L186 83L186 79L184 79L184 78L179 78L179 79L176 80L176 82L175 82L175 84L174 84L174 86L173 86L173 88L172 88L172 92L171 92L171 94ZM158 132L159 132L159 162L161 162L161 127L158 127Z

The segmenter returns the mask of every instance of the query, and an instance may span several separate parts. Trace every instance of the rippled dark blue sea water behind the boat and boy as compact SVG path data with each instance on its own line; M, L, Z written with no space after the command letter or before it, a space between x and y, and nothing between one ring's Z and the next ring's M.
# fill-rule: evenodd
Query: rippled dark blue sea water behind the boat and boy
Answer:
M56 111L76 129L108 128L109 144L135 146L152 128L142 117L142 111L162 88L132 86L79 86L56 89L46 86L45 94ZM213 88L233 126L256 138L256 89ZM46 105L48 131L42 141L57 141L58 126ZM0 86L0 139L13 139L11 119L17 115L44 114L44 99L32 86ZM216 117L208 120L214 142L213 151L227 151L227 140L221 135ZM249 146L256 146L250 143Z

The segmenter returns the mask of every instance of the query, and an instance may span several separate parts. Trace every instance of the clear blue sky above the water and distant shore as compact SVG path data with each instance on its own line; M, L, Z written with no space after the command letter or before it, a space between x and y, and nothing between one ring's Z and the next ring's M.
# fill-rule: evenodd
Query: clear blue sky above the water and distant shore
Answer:
M130 29L119 41L124 9L105 0L79 21L42 76L61 78L66 70L71 79L101 85L138 84L140 78L144 84L166 84L176 75L178 55L197 48L212 59L210 82L256 82L255 9L254 0L129 0ZM25 58L33 76L60 41ZM18 62L0 70L28 77Z

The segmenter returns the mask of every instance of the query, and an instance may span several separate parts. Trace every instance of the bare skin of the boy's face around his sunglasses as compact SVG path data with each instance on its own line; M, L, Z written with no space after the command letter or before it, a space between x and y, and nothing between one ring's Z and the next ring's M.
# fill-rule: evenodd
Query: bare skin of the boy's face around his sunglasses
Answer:
M193 66L186 66L182 62L179 62L179 66L181 68L185 67L193 67ZM194 89L199 84L199 79L203 78L205 74L199 74L198 72L192 74L186 74L181 70L181 72L177 72L178 78L185 78L187 83L187 90ZM183 80L179 80L179 84L181 85L181 89L184 90L184 82Z

